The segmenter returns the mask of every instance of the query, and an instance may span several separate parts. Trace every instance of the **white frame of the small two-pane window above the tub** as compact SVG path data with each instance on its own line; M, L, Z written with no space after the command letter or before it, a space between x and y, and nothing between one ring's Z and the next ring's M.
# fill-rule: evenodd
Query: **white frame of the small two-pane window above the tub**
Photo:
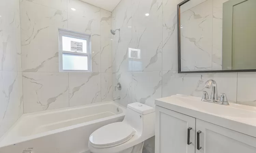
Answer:
M87 44L87 52L76 52L76 51L63 51L62 49L62 36L84 39ZM62 54L70 55L82 55L87 56L88 70L63 70ZM59 71L60 72L91 72L91 36L84 33L74 32L66 29L59 29Z

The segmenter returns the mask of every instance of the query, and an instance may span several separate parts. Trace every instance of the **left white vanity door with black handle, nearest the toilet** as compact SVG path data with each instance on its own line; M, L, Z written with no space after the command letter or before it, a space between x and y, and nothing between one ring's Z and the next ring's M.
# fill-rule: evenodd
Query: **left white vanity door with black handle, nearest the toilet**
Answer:
M195 118L156 106L155 152L195 153L195 128Z

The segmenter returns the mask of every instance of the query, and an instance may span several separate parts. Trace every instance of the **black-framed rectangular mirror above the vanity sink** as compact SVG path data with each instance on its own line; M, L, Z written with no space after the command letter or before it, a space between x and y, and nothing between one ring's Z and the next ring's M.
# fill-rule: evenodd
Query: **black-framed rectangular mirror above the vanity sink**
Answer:
M256 71L256 0L178 4L179 73Z

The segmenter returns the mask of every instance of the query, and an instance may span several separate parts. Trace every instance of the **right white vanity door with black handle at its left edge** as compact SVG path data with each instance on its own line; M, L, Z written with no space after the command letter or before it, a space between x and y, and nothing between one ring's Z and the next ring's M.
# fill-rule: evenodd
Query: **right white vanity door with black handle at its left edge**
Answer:
M196 153L256 153L256 138L196 119Z

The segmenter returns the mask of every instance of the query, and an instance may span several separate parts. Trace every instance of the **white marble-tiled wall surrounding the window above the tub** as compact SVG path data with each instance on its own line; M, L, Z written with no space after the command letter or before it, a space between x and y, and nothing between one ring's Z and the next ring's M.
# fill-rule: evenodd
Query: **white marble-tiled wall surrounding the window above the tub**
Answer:
M112 99L111 12L80 0L21 0L20 24L24 113ZM91 73L59 72L58 28L91 35Z

